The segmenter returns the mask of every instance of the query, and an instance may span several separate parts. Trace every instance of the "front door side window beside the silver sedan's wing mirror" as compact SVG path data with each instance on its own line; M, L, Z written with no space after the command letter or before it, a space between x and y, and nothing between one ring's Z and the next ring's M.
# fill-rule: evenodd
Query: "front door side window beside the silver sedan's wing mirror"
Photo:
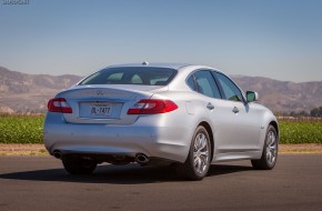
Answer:
M218 72L213 72L213 74L219 80L227 100L243 101L240 89L229 78Z

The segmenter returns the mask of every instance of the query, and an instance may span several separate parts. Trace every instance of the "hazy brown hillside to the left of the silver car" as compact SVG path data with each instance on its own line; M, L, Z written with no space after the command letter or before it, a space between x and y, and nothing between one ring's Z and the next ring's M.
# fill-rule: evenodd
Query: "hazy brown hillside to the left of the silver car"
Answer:
M80 79L71 74L26 74L0 67L0 112L44 112L50 98Z

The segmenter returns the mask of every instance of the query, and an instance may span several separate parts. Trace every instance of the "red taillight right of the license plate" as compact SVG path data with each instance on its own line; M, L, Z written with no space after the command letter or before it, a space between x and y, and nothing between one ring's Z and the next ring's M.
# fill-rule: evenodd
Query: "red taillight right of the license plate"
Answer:
M167 113L175 109L178 109L178 105L171 100L143 99L131 107L128 114Z

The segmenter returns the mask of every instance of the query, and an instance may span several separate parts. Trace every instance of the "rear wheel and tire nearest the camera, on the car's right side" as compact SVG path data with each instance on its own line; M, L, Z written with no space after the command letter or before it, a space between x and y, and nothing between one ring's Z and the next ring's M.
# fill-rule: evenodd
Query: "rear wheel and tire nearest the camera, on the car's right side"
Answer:
M187 180L202 180L210 167L211 144L207 130L198 127L191 140L188 158L184 163L177 163L177 174Z

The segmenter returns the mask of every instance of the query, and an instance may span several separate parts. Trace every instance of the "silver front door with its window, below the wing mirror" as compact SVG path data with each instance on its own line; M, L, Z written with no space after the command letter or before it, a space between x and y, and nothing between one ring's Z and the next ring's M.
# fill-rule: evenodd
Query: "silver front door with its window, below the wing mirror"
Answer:
M259 150L260 118L245 101L242 91L230 78L212 71L219 84L222 100L212 120L220 122L217 134L218 153L242 153Z

